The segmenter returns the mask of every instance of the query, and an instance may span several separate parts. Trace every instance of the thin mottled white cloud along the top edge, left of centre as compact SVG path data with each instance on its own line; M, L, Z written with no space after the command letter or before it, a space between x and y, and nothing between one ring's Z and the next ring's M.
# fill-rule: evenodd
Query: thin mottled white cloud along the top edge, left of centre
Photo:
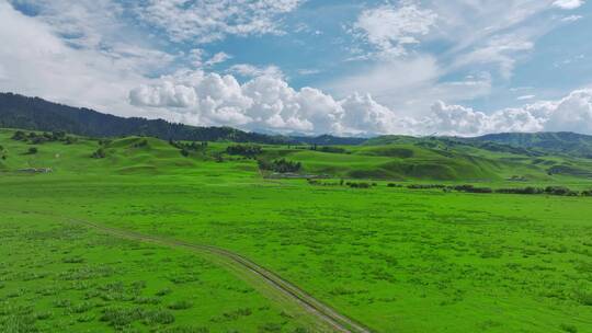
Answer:
M181 1L147 0L134 7L137 18L175 42L210 43L227 35L278 34L278 15L303 0Z

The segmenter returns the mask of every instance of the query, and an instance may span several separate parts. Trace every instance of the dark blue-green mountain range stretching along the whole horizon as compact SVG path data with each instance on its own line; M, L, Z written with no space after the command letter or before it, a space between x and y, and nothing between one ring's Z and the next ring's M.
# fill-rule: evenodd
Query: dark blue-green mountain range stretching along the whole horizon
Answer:
M13 93L0 93L0 127L30 130L62 130L89 137L150 136L160 139L260 143L386 145L429 141L430 137L380 136L376 138L281 136L249 133L231 127L197 127L163 119L119 117L90 108L72 107ZM479 148L517 153L563 153L592 158L592 136L574 133L503 133L474 138L439 137Z

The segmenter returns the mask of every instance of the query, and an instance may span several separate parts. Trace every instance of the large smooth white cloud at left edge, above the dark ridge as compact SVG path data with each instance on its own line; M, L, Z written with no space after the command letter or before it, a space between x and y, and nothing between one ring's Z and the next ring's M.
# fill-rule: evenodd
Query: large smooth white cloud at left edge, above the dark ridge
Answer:
M127 92L144 81L140 69L170 59L163 53L130 46L114 45L106 51L71 47L56 36L53 26L2 0L0 41L1 91L136 116L149 115L126 102Z

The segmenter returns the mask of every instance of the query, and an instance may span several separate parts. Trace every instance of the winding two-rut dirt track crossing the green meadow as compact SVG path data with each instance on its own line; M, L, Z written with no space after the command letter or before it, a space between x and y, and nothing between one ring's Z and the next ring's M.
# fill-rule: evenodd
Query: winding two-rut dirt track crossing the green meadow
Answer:
M231 264L236 266L240 266L241 268L244 268L253 273L253 275L257 276L261 282L273 287L275 290L284 294L289 299L295 301L297 305L303 307L306 311L316 315L318 319L320 319L321 321L330 325L332 329L339 332L352 332L352 333L362 333L362 332L369 333L371 332L368 329L340 314L332 308L323 305L322 302L320 302L319 300L317 300L316 298L314 298L306 291L288 283L287 280L281 278L274 273L228 250L219 249L216 246L209 246L209 245L192 244L184 241L171 240L171 239L160 238L156 236L143 234L143 233L134 232L134 231L110 228L110 227L100 226L90 221L83 221L83 220L70 220L70 221L78 225L90 227L99 231L106 232L112 236L125 238L125 239L149 242L149 243L166 245L170 248L182 248L182 249L189 249L189 250L194 250L194 251L197 250L200 252L205 252L205 253L218 256L218 257L223 257L227 260L228 262L230 262Z

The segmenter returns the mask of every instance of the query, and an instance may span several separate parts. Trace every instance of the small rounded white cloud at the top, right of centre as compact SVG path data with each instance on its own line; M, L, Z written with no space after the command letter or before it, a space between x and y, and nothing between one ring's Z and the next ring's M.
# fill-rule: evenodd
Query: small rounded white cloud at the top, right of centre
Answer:
M403 1L364 10L354 23L354 31L387 55L402 55L406 46L418 44L435 24L437 15L414 1Z

